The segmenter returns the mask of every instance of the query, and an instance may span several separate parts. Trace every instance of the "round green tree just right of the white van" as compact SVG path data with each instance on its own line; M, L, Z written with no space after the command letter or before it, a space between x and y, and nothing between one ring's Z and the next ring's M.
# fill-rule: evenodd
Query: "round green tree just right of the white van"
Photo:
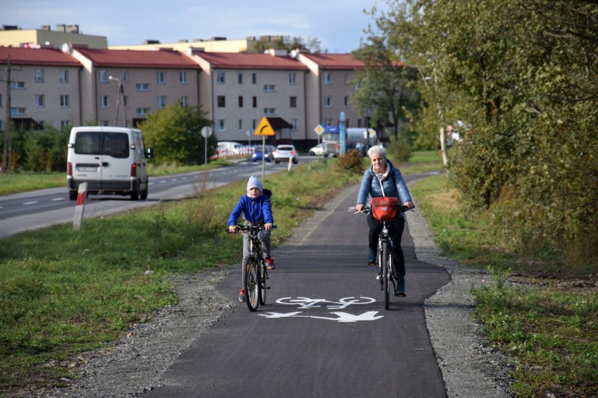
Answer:
M180 102L147 116L140 125L145 144L155 149L157 163L180 165L204 164L204 137L201 128L212 122L204 116L201 106L184 107ZM208 137L208 158L218 145L215 135Z

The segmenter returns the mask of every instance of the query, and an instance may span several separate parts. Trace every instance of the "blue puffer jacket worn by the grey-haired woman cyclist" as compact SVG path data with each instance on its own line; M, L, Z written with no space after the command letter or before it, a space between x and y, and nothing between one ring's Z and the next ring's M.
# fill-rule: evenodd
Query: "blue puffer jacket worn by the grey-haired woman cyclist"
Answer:
M373 171L373 166L371 166L364 172L364 178L361 179L361 186L359 186L359 193L357 194L357 205L359 203L369 205L370 198L378 198L378 196L394 196L399 198L399 205L405 202L413 202L401 171L397 167L394 167L390 163L390 160L386 161L386 166L390 167L390 171L382 181L384 194L382 193L382 188L380 188L378 177L376 177L376 173ZM394 180L392 174L394 174ZM401 212L399 215L402 217L403 213Z

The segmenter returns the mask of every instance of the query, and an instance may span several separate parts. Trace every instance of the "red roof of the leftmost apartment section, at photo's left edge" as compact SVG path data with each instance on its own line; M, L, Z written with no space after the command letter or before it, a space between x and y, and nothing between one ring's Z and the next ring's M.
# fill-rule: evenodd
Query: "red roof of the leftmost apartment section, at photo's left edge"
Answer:
M81 66L74 57L62 53L58 48L0 47L0 64L7 64L9 55L11 64L15 65Z

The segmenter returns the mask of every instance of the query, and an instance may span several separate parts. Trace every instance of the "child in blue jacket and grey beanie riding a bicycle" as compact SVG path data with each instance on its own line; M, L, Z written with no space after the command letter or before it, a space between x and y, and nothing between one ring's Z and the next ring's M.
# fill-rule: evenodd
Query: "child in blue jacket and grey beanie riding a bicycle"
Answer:
M262 243L262 251L268 270L276 268L274 260L270 257L270 231L272 230L272 224L274 224L272 203L270 202L271 195L270 190L262 187L262 181L252 175L247 181L247 195L239 198L239 202L237 202L228 219L228 229L233 233L237 232L237 220L241 213L245 219L245 224L264 226L264 229L258 234L258 238ZM243 233L243 264L245 264L249 254L249 235ZM241 277L244 277L244 275L241 274ZM241 280L241 286L242 284ZM239 290L239 301L245 301L245 289L243 287Z

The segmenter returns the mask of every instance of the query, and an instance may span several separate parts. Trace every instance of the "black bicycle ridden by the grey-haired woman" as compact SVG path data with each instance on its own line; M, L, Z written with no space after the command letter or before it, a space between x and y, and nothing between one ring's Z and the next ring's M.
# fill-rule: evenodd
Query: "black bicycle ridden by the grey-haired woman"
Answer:
M398 206L399 212L406 212L408 207ZM364 207L361 212L370 213L371 206ZM378 231L378 276L376 279L380 280L380 290L384 295L384 308L390 310L390 285L392 284L392 291L397 287L397 275L394 273L394 264L392 263L392 237L390 236L390 223L392 221L378 221L380 224Z

